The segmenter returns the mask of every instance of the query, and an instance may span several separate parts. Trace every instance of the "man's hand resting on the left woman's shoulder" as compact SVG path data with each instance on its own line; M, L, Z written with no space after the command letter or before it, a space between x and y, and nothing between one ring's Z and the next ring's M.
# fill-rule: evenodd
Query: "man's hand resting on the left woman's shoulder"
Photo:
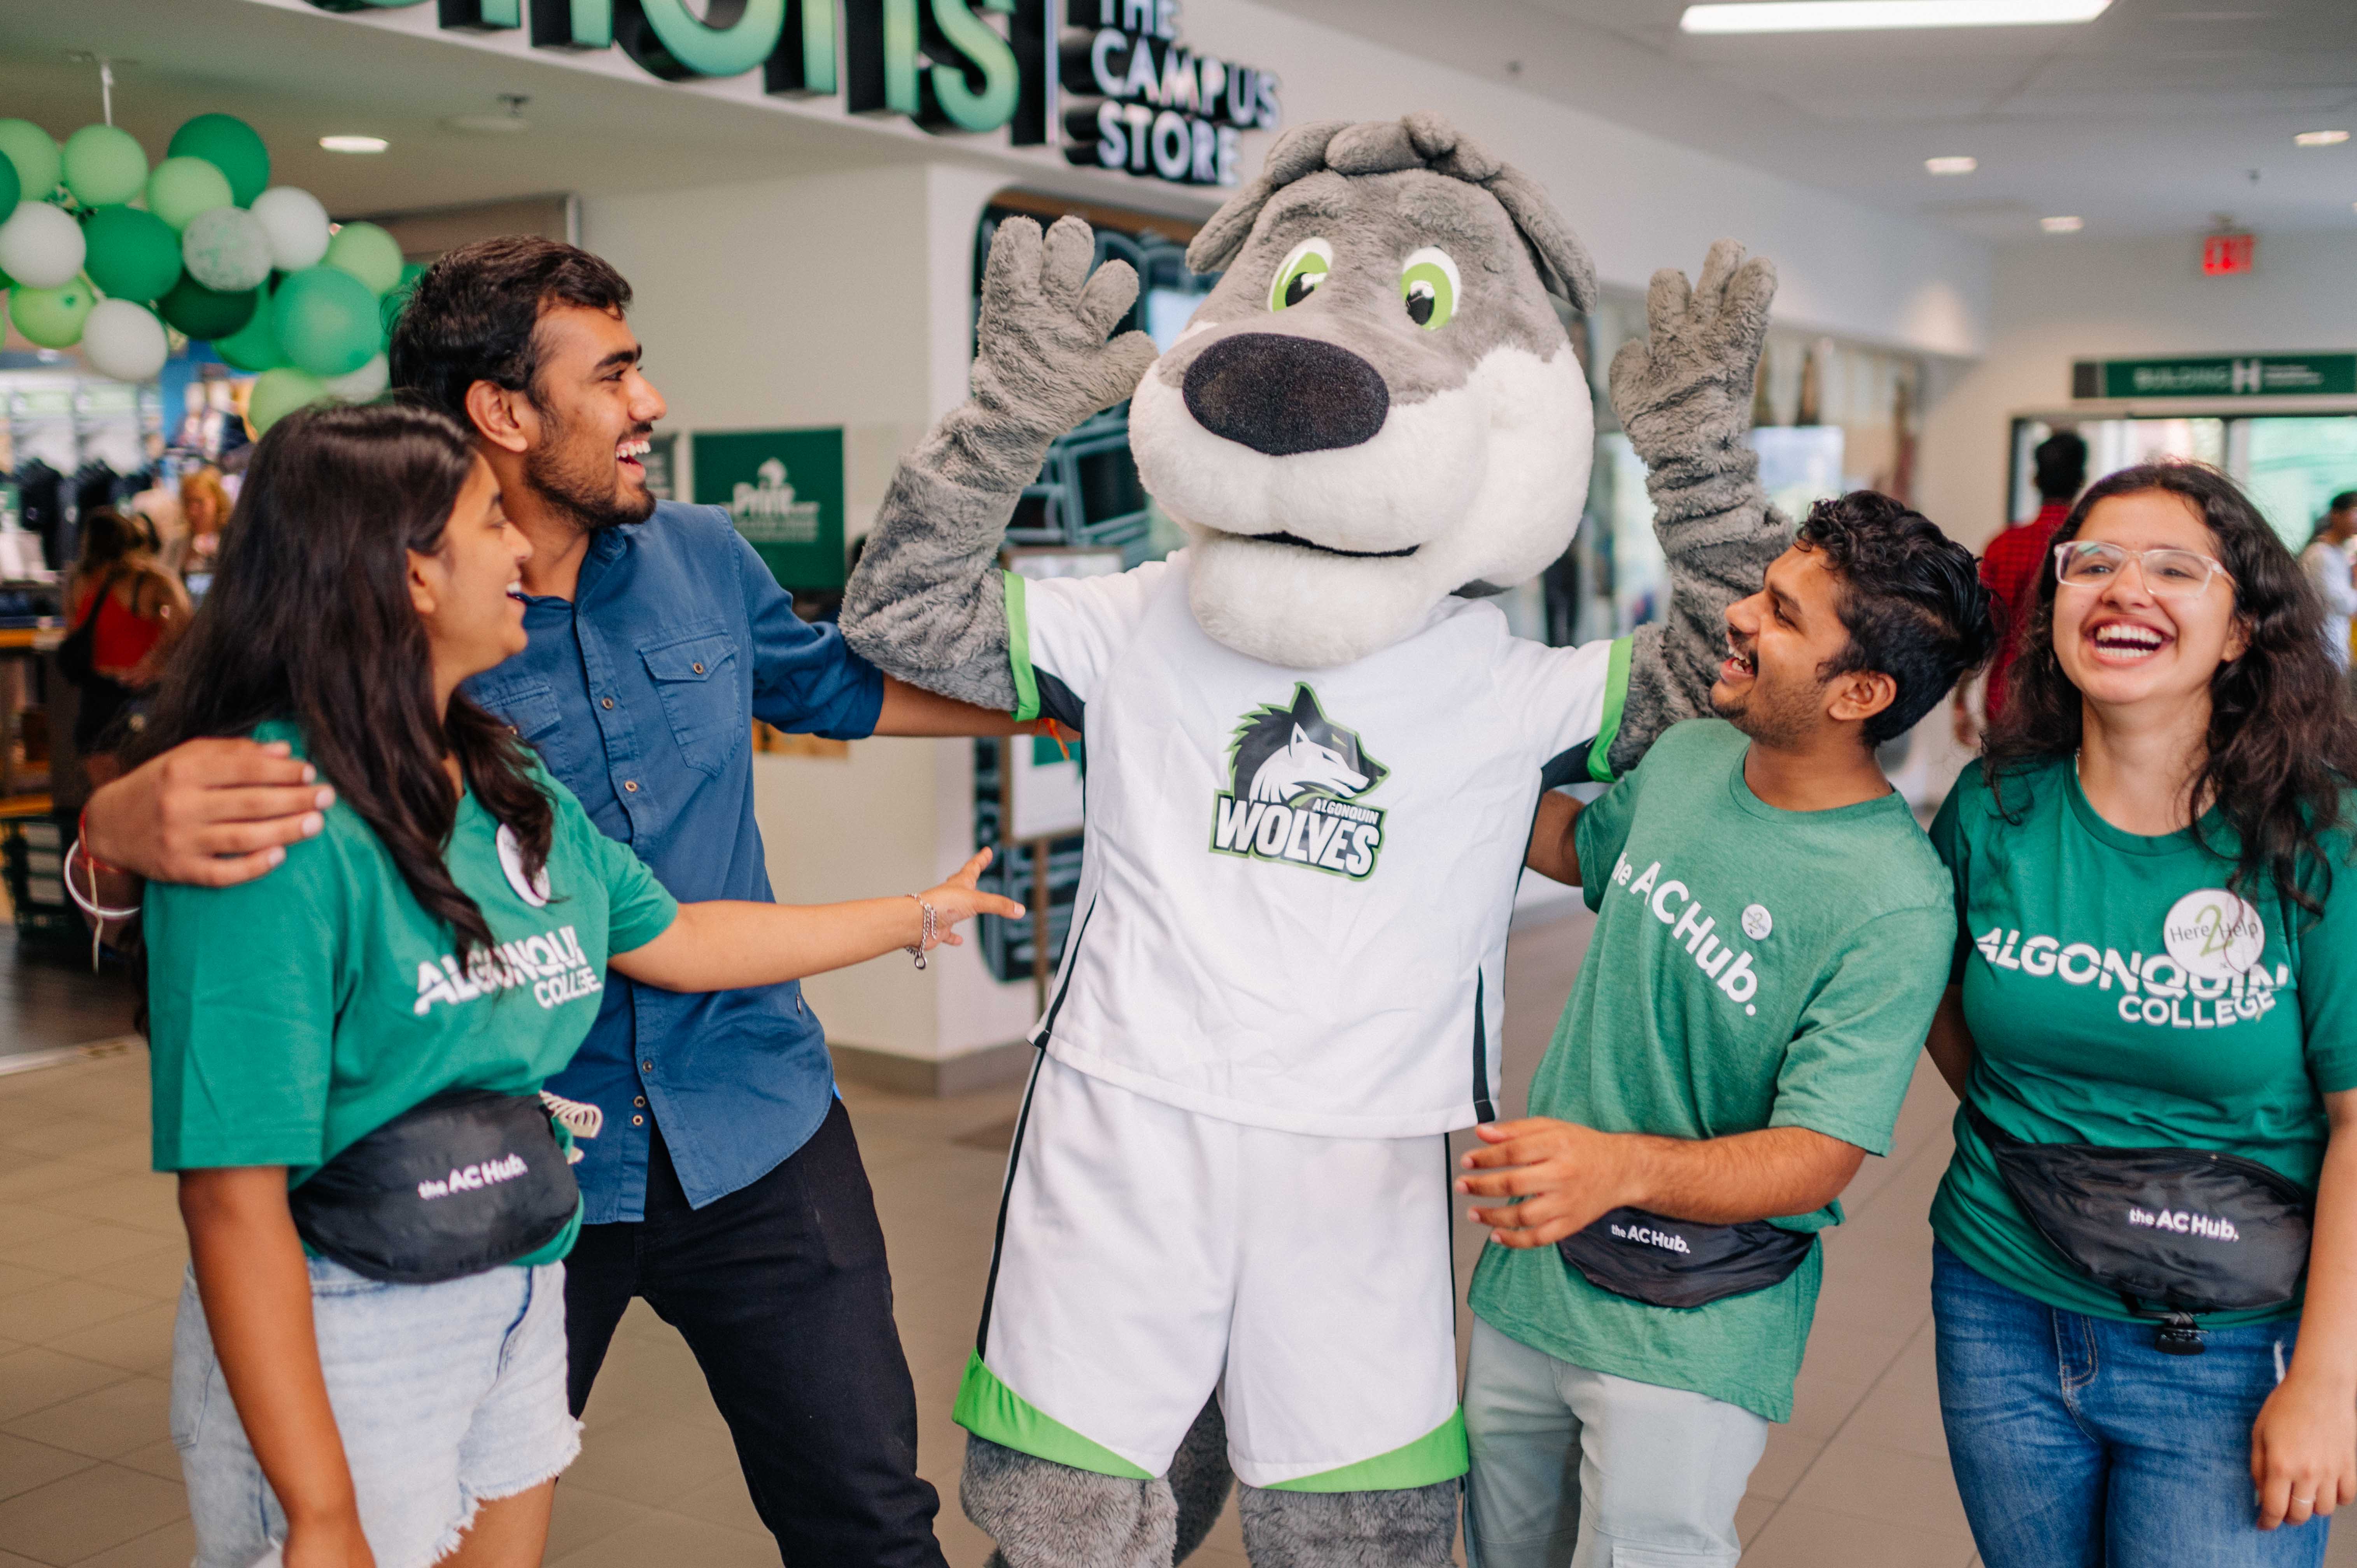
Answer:
M189 740L90 797L82 849L151 882L236 887L316 835L330 804L283 740Z

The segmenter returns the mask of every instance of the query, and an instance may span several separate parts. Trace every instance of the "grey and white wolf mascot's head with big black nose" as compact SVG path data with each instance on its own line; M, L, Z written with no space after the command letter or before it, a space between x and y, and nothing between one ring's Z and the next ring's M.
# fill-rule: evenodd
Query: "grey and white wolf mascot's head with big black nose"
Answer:
M1438 116L1303 125L1188 266L1226 276L1129 441L1204 632L1343 665L1570 547L1593 413L1549 295L1589 309L1596 264L1525 174Z

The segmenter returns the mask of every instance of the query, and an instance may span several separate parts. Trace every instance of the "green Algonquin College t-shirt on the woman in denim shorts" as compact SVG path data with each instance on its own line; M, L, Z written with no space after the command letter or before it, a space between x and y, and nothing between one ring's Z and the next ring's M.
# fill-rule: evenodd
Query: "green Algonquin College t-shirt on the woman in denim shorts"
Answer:
M292 724L255 738L302 755ZM156 1170L285 1165L295 1186L443 1089L533 1094L573 1059L606 957L660 936L679 903L537 764L535 778L556 806L540 884L514 835L460 799L445 863L500 941L467 969L342 799L257 882L148 884Z

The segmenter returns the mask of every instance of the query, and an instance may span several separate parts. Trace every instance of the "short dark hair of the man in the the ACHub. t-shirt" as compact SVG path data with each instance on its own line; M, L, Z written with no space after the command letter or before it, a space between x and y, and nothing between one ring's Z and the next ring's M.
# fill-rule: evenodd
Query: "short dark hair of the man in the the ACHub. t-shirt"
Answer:
M1904 736L1996 648L1989 589L1973 552L1907 502L1879 490L1820 500L1794 545L1822 549L1841 575L1850 646L1817 679L1874 670L1897 684L1890 707L1867 719L1867 745Z

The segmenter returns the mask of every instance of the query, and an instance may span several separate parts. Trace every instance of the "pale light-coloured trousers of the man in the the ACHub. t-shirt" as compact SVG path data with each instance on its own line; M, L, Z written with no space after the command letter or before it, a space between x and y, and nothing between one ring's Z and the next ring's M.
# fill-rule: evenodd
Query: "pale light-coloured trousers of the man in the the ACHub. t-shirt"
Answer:
M1473 1568L1735 1568L1735 1504L1768 1422L1556 1361L1473 1318L1466 1443Z

